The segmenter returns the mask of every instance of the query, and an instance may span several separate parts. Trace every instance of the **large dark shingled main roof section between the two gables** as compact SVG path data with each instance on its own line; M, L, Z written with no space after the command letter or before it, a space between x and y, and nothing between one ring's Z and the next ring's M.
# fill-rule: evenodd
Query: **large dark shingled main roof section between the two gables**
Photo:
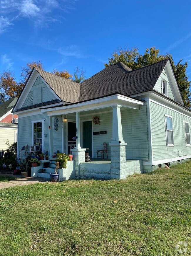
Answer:
M131 70L122 62L110 65L81 83L80 101L120 93L126 96L153 90L169 59Z

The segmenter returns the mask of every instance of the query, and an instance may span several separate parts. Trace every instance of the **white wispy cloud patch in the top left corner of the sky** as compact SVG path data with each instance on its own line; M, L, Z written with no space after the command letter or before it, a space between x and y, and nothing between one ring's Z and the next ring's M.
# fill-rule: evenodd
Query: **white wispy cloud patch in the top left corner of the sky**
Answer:
M53 22L61 22L63 14L58 15L55 10L70 12L75 9L73 4L77 0L0 0L0 33L17 19L31 19L36 26L48 26ZM33 19L35 17L35 19Z

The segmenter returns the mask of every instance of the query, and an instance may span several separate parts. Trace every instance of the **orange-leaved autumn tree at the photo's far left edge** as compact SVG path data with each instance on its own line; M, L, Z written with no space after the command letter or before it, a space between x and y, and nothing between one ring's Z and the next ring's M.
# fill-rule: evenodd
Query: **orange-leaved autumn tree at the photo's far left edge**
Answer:
M0 103L18 96L19 84L15 81L14 73L4 71L0 75Z

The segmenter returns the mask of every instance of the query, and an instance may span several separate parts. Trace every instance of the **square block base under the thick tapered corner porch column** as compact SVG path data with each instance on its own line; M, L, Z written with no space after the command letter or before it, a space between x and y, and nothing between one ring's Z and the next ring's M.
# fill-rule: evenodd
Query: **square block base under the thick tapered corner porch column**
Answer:
M125 179L127 143L110 143L111 146L111 179Z

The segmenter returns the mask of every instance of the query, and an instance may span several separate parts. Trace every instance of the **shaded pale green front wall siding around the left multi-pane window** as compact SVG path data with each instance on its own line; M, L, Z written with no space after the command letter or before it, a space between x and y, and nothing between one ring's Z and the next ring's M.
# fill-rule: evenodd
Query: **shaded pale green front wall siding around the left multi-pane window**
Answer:
M44 137L44 152L46 150L49 151L49 117L47 114L40 114L40 115L32 115L28 117L19 118L18 123L18 149L19 149L19 156L21 155L21 149L23 146L29 145L31 146L32 142L32 121L36 120L44 120L44 134L47 134L47 137ZM25 157L24 154L21 155L22 158Z

